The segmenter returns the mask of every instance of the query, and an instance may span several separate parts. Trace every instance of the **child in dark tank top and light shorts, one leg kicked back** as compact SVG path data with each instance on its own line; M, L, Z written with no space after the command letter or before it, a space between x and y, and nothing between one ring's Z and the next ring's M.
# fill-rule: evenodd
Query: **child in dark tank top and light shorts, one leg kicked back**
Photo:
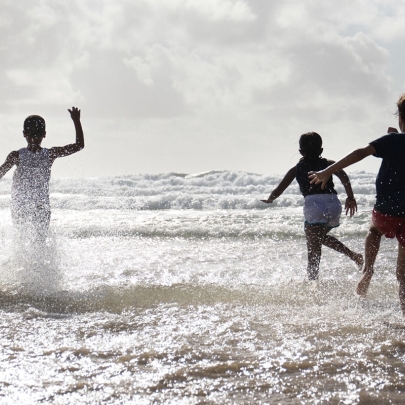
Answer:
M327 235L332 228L339 226L342 205L337 198L332 179L324 188L311 184L308 172L311 170L324 169L334 162L321 157L322 138L316 132L303 134L299 140L302 158L296 166L290 169L280 184L272 191L265 203L272 203L284 190L296 179L301 193L304 196L305 236L308 249L308 278L317 280L319 276L319 262L321 260L322 245L337 252L343 253L352 259L358 267L363 265L363 257L359 253L351 251L334 236ZM350 216L357 211L356 200L353 197L352 187L347 174L340 170L335 173L342 182L346 193L346 215Z

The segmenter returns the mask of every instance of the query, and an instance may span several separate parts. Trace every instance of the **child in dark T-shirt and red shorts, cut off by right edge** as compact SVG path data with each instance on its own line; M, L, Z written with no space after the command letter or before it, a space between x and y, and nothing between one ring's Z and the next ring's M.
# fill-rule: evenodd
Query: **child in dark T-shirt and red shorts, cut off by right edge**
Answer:
M325 170L310 172L311 183L325 186L329 177L338 170L359 162L369 155L382 158L376 179L376 202L371 225L365 241L363 277L357 285L357 294L365 296L374 272L374 262L381 236L398 240L397 280L399 299L405 316L405 94L398 102L398 124L401 130L388 128L388 134L357 149Z

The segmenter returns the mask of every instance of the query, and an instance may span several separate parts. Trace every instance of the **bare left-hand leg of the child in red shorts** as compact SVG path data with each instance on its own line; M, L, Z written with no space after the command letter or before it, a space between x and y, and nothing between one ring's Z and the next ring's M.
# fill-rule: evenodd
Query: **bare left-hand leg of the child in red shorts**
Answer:
M377 258L378 250L380 249L382 235L383 234L380 232L380 230L373 223L371 223L365 241L363 277L357 284L356 288L357 294L361 295L362 297L366 296L371 278L373 277L374 263L375 259Z

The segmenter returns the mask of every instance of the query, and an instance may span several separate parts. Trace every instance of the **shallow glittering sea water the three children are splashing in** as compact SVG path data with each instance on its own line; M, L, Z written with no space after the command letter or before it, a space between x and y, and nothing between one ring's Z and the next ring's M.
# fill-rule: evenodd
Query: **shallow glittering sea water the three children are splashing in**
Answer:
M192 190L196 199L224 186L215 176L208 191ZM220 198L247 201L252 182ZM306 281L298 194L265 210L133 210L117 208L121 197L107 206L111 195L80 209L66 184L55 186L53 232L35 260L16 254L7 202L0 211L1 403L403 402L394 241L383 240L359 299L358 269L330 250L319 284ZM367 184L359 214L333 231L355 251L369 221ZM81 202L90 189L81 186Z

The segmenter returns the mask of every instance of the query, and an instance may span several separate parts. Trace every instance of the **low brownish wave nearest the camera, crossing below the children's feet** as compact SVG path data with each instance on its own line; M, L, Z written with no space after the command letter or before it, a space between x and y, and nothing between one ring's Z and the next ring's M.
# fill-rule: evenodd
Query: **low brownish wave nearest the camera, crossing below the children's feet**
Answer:
M392 280L381 283L382 291L392 288ZM305 293L304 293L305 291ZM82 291L59 291L52 294L34 294L14 287L1 291L0 305L8 311L23 313L27 319L63 319L69 315L106 311L122 313L127 309L150 308L157 305L283 305L298 310L302 305L331 305L342 311L347 308L372 306L378 310L397 308L392 299L374 298L372 304L359 303L347 281L323 280L314 285L303 278L292 278L277 285L243 285L238 287L218 284L192 285L103 285Z

